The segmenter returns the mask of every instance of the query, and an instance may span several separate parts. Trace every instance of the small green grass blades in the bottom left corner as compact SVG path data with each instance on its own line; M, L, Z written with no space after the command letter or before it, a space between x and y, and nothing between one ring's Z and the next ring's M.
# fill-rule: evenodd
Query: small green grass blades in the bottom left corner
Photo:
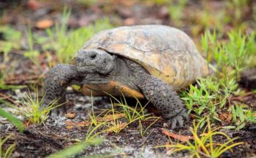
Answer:
M15 149L16 143L13 143L10 145L5 151L3 150L4 143L10 139L10 137L13 137L13 134L8 135L7 137L3 138L0 137L0 157L2 158L9 158L12 156L13 151Z

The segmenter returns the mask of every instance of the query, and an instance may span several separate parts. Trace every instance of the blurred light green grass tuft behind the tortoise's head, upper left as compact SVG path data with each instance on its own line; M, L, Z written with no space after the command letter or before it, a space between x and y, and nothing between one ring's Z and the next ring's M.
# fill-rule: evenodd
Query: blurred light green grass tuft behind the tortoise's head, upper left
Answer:
M55 24L53 29L47 29L46 33L50 38L50 43L43 44L43 49L54 50L59 62L67 63L74 57L74 54L82 48L85 41L102 29L113 27L107 18L95 21L94 24L68 32L68 18L71 10L66 7L63 10L63 21L61 26ZM68 32L68 33L67 33Z

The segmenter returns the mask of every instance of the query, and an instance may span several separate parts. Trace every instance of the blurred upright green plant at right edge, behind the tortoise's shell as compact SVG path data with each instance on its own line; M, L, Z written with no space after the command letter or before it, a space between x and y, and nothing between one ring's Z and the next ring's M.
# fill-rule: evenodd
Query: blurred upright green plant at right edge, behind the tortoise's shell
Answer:
M206 53L207 61L216 62L216 67L211 66L216 72L216 80L226 85L230 79L239 79L239 73L255 59L255 32L251 35L242 35L241 31L227 32L228 42L219 43L216 32L209 31L202 36L202 46ZM210 49L211 48L211 49Z

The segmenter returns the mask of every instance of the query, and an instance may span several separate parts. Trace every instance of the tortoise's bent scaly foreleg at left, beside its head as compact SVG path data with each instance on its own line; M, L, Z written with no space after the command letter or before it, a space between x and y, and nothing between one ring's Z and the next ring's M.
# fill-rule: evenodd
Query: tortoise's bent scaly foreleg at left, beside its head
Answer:
M54 99L59 99L57 104L65 103L66 89L78 77L77 68L74 65L60 64L52 68L47 73L44 81L44 93L46 96L43 106L47 106Z

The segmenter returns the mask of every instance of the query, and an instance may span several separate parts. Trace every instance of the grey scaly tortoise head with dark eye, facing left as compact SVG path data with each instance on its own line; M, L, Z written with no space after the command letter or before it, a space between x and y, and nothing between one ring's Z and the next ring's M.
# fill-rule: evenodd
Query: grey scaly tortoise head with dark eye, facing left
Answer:
M113 71L115 55L100 49L82 49L77 54L77 71L107 74Z

